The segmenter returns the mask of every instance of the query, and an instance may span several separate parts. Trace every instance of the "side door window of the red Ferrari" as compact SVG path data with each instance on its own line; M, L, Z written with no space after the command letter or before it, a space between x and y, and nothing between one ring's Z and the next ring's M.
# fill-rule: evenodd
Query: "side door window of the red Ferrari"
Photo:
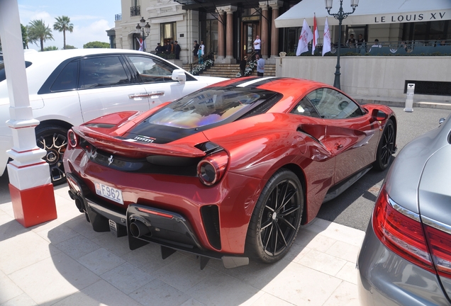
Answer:
M307 98L321 118L344 119L363 115L360 106L333 89L317 89L308 94Z

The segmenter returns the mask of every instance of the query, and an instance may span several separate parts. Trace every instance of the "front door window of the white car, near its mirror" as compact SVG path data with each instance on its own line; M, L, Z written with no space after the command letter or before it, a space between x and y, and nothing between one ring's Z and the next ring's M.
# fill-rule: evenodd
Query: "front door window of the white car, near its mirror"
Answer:
M144 83L174 81L172 80L174 68L169 64L151 57L128 56L128 58Z

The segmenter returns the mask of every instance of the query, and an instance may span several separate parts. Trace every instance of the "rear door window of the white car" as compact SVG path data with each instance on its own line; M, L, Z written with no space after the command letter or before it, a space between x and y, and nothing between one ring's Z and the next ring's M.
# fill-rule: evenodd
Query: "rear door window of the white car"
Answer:
M118 56L94 57L82 60L81 88L130 84Z

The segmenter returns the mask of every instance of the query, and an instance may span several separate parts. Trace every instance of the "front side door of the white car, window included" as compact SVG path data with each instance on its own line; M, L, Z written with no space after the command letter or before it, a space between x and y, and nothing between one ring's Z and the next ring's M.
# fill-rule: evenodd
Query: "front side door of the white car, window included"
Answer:
M145 55L127 55L127 57L145 87L151 108L160 103L182 98L206 86L203 82L189 76L186 76L184 84L174 81L172 72L176 67L157 57Z

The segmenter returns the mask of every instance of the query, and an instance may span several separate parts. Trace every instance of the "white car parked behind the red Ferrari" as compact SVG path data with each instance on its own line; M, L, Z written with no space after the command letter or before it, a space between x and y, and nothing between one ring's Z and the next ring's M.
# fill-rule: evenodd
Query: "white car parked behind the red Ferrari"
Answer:
M65 182L62 154L67 130L119 111L147 111L223 81L194 77L155 55L135 50L74 49L25 52L26 74L38 147L47 151L52 183ZM0 174L13 147L4 62L0 61Z

